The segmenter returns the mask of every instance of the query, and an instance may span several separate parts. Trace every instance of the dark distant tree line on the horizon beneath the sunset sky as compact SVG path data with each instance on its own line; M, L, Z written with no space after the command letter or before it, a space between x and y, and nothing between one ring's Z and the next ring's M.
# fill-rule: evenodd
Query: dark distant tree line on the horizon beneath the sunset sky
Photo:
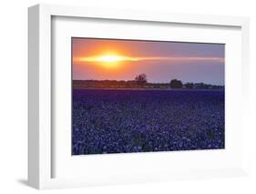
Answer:
M140 74L134 80L73 80L73 87L97 88L186 88L186 89L223 89L223 86L201 83L182 83L179 79L171 79L169 83L148 83L147 76Z

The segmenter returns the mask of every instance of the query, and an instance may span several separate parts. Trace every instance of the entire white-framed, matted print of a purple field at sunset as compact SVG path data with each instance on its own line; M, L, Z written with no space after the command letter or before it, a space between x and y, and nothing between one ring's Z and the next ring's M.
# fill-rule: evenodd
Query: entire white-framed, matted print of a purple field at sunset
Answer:
M29 185L246 174L247 18L28 13Z

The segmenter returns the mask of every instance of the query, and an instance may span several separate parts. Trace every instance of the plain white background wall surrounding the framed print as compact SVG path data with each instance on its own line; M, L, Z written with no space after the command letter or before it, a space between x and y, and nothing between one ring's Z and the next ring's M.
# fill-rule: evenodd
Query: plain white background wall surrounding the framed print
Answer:
M26 186L27 163L27 7L71 4L251 18L251 122L248 128L250 176L184 180L143 185L66 189L63 193L255 193L256 192L256 11L253 0L7 0L0 5L0 193L34 193ZM254 115L253 115L254 114ZM55 193L60 190L43 191Z

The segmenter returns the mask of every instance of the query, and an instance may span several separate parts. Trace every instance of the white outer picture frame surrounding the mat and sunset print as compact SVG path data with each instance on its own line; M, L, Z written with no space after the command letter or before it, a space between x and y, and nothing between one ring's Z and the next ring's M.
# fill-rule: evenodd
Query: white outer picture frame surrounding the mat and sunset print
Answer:
M111 23L113 20L120 21L139 21L141 23L157 24L182 24L188 26L206 26L211 27L234 27L240 30L241 44L239 44L238 50L239 59L238 68L242 71L236 73L241 76L241 79L237 82L241 86L240 98L242 104L239 107L240 110L236 117L241 117L239 121L241 125L238 127L239 134L243 135L243 138L236 142L241 147L241 151L237 158L240 158L240 162L230 165L230 168L213 167L213 168L191 168L190 170L182 170L177 166L176 171L173 170L159 170L153 168L148 173L143 171L136 173L130 173L126 175L126 172L122 175L122 171L119 170L119 174L102 175L96 173L96 176L87 178L81 178L74 173L72 177L55 177L54 169L58 163L55 162L56 151L54 149L55 138L53 138L53 94L54 87L53 80L55 74L52 71L53 63L53 18L92 18L92 19L108 19ZM183 15L183 14L170 14L170 13L151 13L141 12L135 10L112 10L102 8L91 7L77 7L67 5L35 5L28 9L28 183L30 186L36 189L56 189L56 188L69 188L69 187L84 187L90 185L106 185L106 184L126 184L130 182L150 182L150 181L162 181L169 179L189 179L189 178L212 178L212 177L230 177L246 175L246 125L245 120L248 114L248 83L249 80L249 19L246 17L234 17L234 16L219 16L219 15ZM214 32L213 32L214 33ZM236 36L237 37L237 36ZM148 38L150 38L148 36ZM235 76L229 76L235 78ZM230 79L231 80L231 79ZM231 87L230 87L231 88ZM230 93L231 93L230 89ZM58 134L55 134L58 136ZM65 151L65 150L64 150ZM157 163L163 161L169 152L164 153L161 156L161 160L156 160ZM223 153L221 153L223 154ZM225 154L225 153L224 153ZM207 157L206 152L200 152L202 157ZM173 155L175 157L176 155ZM71 157L71 156L70 156ZM101 157L101 156L99 156ZM112 157L112 161L123 158ZM144 155L148 159L160 157L160 155ZM127 155L126 159L138 159L132 155ZM106 157L105 157L106 159ZM182 159L182 157L181 157ZM185 159L188 159L186 156ZM78 162L79 163L79 162ZM72 163L72 164L78 164ZM67 166L65 166L67 165ZM159 164L160 165L160 164ZM61 168L65 173L68 171L68 164L64 163L64 167ZM145 168L144 170L147 170ZM83 171L83 170L81 170ZM171 172L171 173L170 173ZM111 176L109 179L108 176ZM102 177L102 178L101 178Z

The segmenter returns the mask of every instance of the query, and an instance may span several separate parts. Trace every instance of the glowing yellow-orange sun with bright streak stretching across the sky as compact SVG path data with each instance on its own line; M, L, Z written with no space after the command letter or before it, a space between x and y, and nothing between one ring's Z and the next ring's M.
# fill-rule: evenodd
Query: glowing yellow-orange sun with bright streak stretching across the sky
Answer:
M108 45L94 45L89 50L86 50L85 47L81 49L76 56L73 56L73 63L82 66L91 65L95 66L98 70L105 69L117 73L127 69L127 65L130 68L130 66L136 62L162 61L166 62L167 65L175 64L177 62L187 63L188 61L224 62L224 58L222 57L210 56L139 56L139 52L136 52L136 49L128 48L128 46L122 46L121 44L113 42L108 43Z

